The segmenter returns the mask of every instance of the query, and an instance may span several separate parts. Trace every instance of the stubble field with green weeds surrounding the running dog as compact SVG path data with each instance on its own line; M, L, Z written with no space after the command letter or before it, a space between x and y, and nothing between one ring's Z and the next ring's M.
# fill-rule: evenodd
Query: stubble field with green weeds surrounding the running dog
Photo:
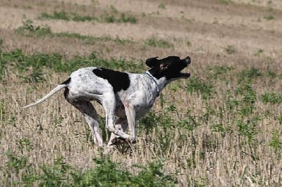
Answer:
M63 91L86 66L190 56L109 156ZM0 186L282 186L281 0L1 0ZM104 112L99 112L104 141Z

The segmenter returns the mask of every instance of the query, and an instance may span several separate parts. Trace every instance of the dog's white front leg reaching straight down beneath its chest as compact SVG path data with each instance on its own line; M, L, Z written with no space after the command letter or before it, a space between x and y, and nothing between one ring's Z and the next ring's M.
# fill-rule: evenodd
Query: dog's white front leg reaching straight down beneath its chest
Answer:
M135 108L130 103L126 103L124 105L124 109L125 109L125 115L128 119L128 127L130 131L130 135L132 136L128 141L130 141L131 143L136 143Z

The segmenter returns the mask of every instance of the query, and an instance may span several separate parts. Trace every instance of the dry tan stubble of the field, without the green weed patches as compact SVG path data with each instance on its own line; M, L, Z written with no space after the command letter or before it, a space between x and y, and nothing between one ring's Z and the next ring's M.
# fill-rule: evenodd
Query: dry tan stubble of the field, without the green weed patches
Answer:
M160 6L162 4L162 6ZM137 18L136 24L105 22L74 22L65 20L38 20L42 12L66 10L80 15L103 15L111 12L128 13ZM160 8L161 7L161 8ZM273 16L267 17L267 16ZM70 32L90 37L127 39L128 43L114 40L85 41L69 37L25 37L14 33L22 21L30 19L34 25L48 25L54 33ZM156 38L168 41L173 47L158 48L145 44L146 39ZM270 91L281 93L282 59L282 6L281 1L1 1L0 39L3 51L22 49L29 55L36 52L60 53L66 58L88 56L97 51L99 58L135 59L136 63L151 56L190 56L192 77L200 77L214 84L213 98L204 100L197 93L188 93L190 80L169 85L164 90L164 101L158 99L154 112L176 106L178 112L169 112L173 124L194 116L198 124L192 130L175 127L166 132L170 137L168 148L162 150L158 136L165 138L158 128L146 134L139 131L138 142L133 152L114 150L111 160L123 163L125 169L134 164L164 159L166 173L179 172L179 186L281 186L281 146L275 153L269 146L273 132L278 131L281 139L281 103L263 103L259 96ZM228 46L235 51L228 54ZM262 50L260 53L259 51ZM1 59L1 57L0 57ZM215 68L234 67L230 73L212 78ZM212 70L209 70L209 67ZM256 67L261 72L274 72L276 77L259 77L252 82L257 100L250 115L239 115L227 110L227 91L231 98L243 101L235 90L240 84L240 72ZM57 94L49 101L35 108L22 110L26 103L35 101L62 82L68 73L56 73L49 69L46 81L25 83L20 73L12 66L6 69L6 76L0 83L0 178L4 179L6 152L20 154L18 141L27 138L33 150L23 150L32 166L52 163L63 156L66 162L76 168L94 167L92 158L100 152L90 140L90 131L82 115ZM176 91L173 91L176 90ZM164 106L162 106L164 104ZM102 108L99 113L103 116ZM214 110L211 112L210 110ZM235 113L234 113L235 112ZM207 121L200 120L209 115ZM238 121L260 117L255 125L255 143L245 143L238 129ZM159 129L164 130L160 122ZM224 133L212 131L215 124L222 124ZM140 127L140 129L142 129ZM258 158L258 159L257 159ZM6 176L0 186L11 186L13 180L20 180L20 174Z

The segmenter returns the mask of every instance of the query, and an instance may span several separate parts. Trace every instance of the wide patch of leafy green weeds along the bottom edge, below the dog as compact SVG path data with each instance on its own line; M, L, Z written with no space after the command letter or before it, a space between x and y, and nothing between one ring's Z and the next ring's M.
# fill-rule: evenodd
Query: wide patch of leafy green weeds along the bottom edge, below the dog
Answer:
M175 174L164 174L161 161L148 165L133 165L137 174L122 169L119 163L111 162L109 157L94 158L95 167L82 171L68 165L63 157L54 160L53 165L43 165L39 171L32 169L28 158L14 155L11 150L8 157L6 176L18 175L14 185L34 186L174 186Z

